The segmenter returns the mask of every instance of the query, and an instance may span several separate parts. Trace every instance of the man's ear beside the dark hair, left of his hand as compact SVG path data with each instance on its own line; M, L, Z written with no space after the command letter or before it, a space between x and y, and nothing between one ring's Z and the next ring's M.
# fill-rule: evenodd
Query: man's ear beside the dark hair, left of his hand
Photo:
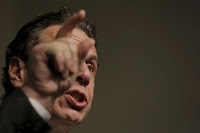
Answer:
M24 85L24 80L26 77L26 66L21 59L13 57L10 60L8 73L10 82L15 88L20 88Z

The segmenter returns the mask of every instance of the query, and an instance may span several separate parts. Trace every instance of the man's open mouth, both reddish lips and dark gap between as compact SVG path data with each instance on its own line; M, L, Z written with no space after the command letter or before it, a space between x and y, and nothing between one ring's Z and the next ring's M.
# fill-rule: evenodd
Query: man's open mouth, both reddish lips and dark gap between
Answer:
M87 98L84 93L78 90L69 91L66 93L67 102L73 109L81 110L87 106Z

